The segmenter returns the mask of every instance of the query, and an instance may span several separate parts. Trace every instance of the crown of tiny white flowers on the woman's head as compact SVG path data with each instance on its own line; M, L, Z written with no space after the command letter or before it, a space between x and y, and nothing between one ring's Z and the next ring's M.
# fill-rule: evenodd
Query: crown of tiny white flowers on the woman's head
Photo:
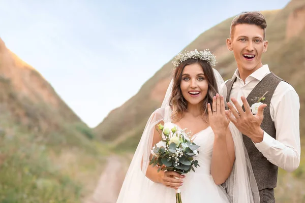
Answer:
M181 62L186 61L190 58L205 60L207 63L210 64L210 66L215 66L217 63L216 56L212 54L209 49L203 51L197 51L197 49L195 49L194 51L188 51L186 53L178 53L175 59L172 61L174 69L178 67Z

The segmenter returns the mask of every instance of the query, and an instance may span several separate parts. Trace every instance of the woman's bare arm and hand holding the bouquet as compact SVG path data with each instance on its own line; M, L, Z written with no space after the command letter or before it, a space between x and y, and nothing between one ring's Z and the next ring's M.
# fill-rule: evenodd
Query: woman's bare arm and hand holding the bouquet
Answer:
M162 125L164 125L163 121L161 121L160 123ZM156 125L156 128L158 128L157 125ZM161 137L159 135L159 132L155 129L153 145L151 146L151 148L153 148L153 146L155 146L155 144L157 144L160 141L161 141ZM150 156L150 158L151 158L151 156ZM171 187L174 189L177 189L177 188L179 188L179 186L181 186L181 184L183 183L181 178L184 176L180 176L180 174L178 174L176 172L164 172L164 171L158 172L158 168L159 168L158 166L153 167L152 165L148 165L147 171L146 171L146 177L155 183L162 183L165 186ZM173 176L175 176L179 179L175 179Z

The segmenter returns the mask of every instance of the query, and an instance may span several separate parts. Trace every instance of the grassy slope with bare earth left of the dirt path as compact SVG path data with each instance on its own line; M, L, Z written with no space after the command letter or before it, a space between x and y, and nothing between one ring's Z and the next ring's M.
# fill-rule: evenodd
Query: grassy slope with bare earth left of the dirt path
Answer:
M92 129L0 39L0 202L81 202L103 170Z

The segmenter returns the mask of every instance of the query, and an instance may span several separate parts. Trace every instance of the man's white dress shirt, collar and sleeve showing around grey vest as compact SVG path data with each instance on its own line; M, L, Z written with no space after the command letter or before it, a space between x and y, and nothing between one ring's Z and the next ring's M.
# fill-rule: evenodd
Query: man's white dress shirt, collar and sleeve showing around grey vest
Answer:
M234 97L242 106L240 97L247 98L253 88L269 73L268 65L263 65L248 76L244 83L237 69L234 73L237 79L230 93L230 103L233 104L231 97ZM281 81L272 95L269 108L271 119L275 122L277 130L276 139L264 131L263 141L256 143L255 146L271 163L292 172L300 163L301 151L298 94L291 85Z

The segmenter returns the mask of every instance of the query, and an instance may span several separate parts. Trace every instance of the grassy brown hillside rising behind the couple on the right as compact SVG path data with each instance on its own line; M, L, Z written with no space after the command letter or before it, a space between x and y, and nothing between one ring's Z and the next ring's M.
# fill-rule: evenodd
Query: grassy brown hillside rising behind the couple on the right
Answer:
M266 40L268 51L263 55L263 63L272 72L289 82L300 97L300 135L302 151L305 149L305 2L292 0L284 9L262 12L266 17ZM229 18L202 33L184 50L209 48L218 59L216 69L223 78L232 77L236 69L233 53L226 49L229 37ZM133 153L140 140L142 130L150 114L160 107L170 81L172 59L151 77L126 103L114 109L94 129L98 139L123 153ZM289 119L289 118L287 118ZM118 127L119 126L119 127ZM302 152L302 157L303 152ZM305 184L305 160L292 174L280 171L279 186L276 190L277 202L305 202L302 189Z

